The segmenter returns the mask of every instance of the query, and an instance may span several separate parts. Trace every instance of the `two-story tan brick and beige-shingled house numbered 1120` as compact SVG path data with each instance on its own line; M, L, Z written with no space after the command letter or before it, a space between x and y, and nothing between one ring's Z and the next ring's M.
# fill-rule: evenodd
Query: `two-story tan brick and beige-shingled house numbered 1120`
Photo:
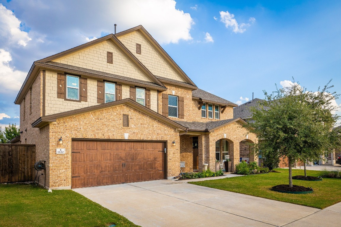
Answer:
M15 103L47 188L172 178L180 161L216 171L257 142L237 105L198 89L142 26L35 61Z

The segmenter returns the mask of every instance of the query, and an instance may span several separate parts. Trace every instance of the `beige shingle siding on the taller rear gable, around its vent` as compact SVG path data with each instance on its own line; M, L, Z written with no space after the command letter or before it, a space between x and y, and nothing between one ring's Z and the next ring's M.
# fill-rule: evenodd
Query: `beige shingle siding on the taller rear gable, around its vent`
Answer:
M149 71L152 72L152 74L184 82L177 72L164 60L159 52L154 49L139 31L119 36L118 39L149 69ZM136 53L136 43L141 44L141 54Z

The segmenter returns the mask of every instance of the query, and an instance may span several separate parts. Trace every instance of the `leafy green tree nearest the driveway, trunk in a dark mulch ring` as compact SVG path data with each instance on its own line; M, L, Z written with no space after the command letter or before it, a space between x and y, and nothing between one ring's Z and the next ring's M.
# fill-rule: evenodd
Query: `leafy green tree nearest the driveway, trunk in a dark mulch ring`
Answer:
M331 101L338 98L330 94L330 81L322 91L308 92L298 83L268 94L261 108L251 108L250 126L262 142L258 150L278 158L286 156L289 167L289 187L292 187L292 166L298 159L306 160L322 155L336 146L340 135L331 129L340 116L331 114L336 107ZM334 141L333 141L334 140Z

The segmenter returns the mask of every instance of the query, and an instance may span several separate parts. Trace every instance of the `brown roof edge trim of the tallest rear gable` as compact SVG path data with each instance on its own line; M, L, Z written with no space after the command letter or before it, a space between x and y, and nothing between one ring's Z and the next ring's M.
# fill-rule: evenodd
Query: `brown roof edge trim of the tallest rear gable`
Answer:
M175 63L175 61L168 55L168 53L160 46L160 44L149 34L149 32L147 32L147 30L142 25L116 33L115 36L119 37L135 31L139 31L149 41L154 49L160 53L160 55L168 62L168 64L172 66L174 70L182 77L182 79L196 87L195 83L185 74L184 71L182 71L182 69Z

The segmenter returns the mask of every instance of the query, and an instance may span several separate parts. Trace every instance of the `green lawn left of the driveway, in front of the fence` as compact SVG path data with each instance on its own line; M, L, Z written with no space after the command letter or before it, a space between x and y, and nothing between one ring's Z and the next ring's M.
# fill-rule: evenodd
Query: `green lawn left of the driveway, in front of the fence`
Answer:
M137 226L127 218L71 190L32 184L0 184L0 226Z

